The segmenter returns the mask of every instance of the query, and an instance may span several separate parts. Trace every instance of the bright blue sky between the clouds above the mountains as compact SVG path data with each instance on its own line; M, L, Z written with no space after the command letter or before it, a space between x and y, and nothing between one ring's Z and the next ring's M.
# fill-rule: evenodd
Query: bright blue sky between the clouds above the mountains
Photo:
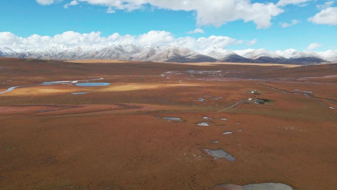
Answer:
M79 0L76 1L76 5L65 8L65 4L71 0L39 1L1 0L0 18L2 19L0 32L10 32L18 37L27 38L33 34L52 37L66 31L74 31L81 34L100 31L102 37L107 37L113 33L141 35L154 30L167 31L174 38L208 38L214 35L235 38L237 41L241 40L241 42L227 44L222 47L226 49L266 48L275 51L294 48L296 50L305 50L311 43L319 44L312 49L314 51L337 49L337 23L335 23L337 18L334 18L333 14L335 9L332 11L332 18L329 18L331 21L328 24L320 23L324 21L319 19L326 20L324 17L318 17L315 23L308 21L309 17L315 16L320 11L335 8L337 2L288 0L296 3L279 6L283 12L278 13L276 16L271 16L270 22L272 24L267 27L264 26L262 29L257 29L255 21L244 22L240 18L229 19L231 21L225 19L225 21L220 21L216 24L209 21L208 17L222 17L221 11L217 15L210 16L208 16L208 13L202 13L203 17L208 20L200 24L197 19L198 15L201 15L198 12L198 7L196 10L176 10L177 8L175 8L174 4L157 6L150 2L141 4L141 7L125 8L121 7L123 4L112 6L111 2L114 0L105 0L107 1L105 4L98 4L95 0ZM299 1L302 3L297 3ZM278 0L253 0L248 2L250 4L256 2L277 4ZM212 0L208 0L208 3L212 3ZM323 7L325 3L326 6ZM163 6L166 8L163 8ZM114 13L107 13L109 7ZM212 11L209 12L209 14L212 14ZM335 16L337 17L337 15ZM238 17L246 17L246 15L238 15ZM291 23L294 19L297 20L297 24L286 28L282 27L282 23ZM202 29L203 33L187 33L197 28ZM255 38L257 39L256 43L247 45L250 40Z

